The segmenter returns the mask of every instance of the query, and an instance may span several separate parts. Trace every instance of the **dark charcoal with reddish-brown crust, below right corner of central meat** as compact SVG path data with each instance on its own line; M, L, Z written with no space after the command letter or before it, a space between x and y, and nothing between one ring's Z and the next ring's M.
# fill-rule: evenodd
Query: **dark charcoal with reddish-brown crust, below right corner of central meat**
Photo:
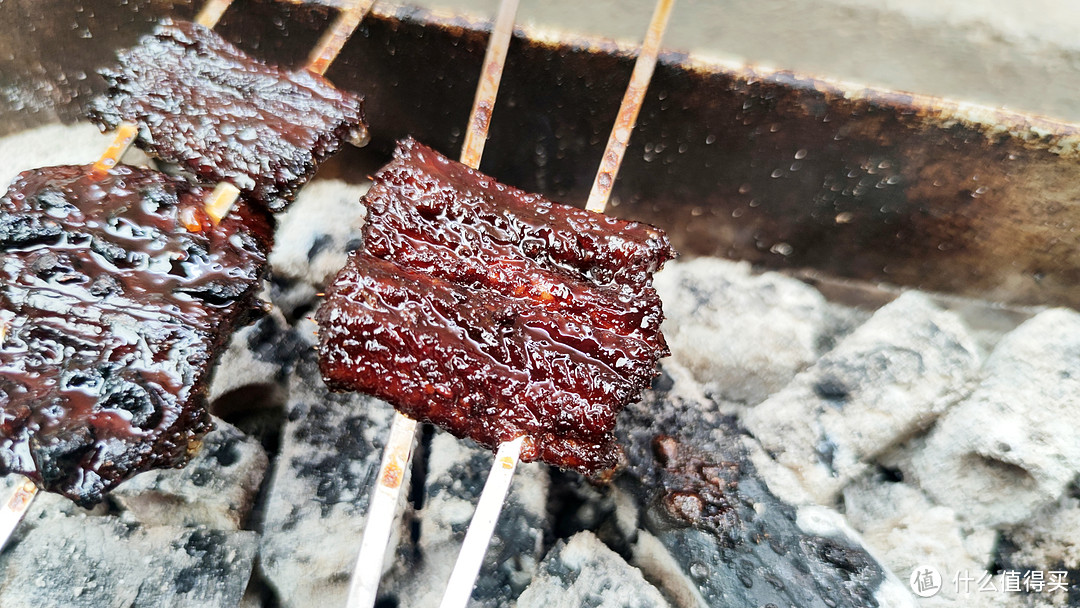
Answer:
M619 422L650 580L699 606L914 606L839 514L777 498L734 419L697 394L661 376Z

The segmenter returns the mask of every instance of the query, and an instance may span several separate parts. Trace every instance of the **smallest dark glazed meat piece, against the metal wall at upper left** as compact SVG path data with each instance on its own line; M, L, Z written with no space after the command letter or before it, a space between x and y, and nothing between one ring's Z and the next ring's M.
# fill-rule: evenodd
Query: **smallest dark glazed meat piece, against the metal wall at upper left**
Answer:
M136 144L207 183L229 181L283 211L326 158L362 138L363 98L308 70L248 57L213 30L165 19L103 71L87 113L139 125Z

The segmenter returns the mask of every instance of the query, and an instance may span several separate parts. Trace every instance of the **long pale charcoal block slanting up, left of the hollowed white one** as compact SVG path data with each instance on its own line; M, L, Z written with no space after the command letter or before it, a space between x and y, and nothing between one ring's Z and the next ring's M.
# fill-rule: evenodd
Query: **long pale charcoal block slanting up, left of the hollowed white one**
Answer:
M968 390L977 349L954 314L907 293L878 310L743 423L821 504Z

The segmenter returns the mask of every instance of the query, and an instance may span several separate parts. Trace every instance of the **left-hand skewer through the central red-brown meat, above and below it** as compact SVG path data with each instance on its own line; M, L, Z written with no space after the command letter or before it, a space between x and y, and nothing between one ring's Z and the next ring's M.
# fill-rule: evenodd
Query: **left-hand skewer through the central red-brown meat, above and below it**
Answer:
M517 4L518 0L502 0L491 30L491 38L488 40L484 66L461 148L461 163L472 168L480 168L480 161L484 154L484 144L487 140L488 126L491 122L491 110L495 108L499 81L502 78L502 68L507 60L507 50L513 35ZM386 557L397 504L404 489L397 471L404 471L408 467L416 424L415 420L400 411L394 413L393 423L390 428L390 441L382 452L382 462L367 510L367 521L364 524L360 554L356 556L356 565L349 586L349 608L369 608L375 605L379 579L382 576L382 562ZM503 491L504 494L505 491ZM498 518L498 511L496 511L495 518Z

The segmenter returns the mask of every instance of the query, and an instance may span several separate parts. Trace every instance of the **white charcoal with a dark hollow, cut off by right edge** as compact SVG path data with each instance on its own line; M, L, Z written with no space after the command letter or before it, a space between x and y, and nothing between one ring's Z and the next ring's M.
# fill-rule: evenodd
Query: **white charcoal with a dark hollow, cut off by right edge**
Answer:
M972 395L934 427L912 473L975 525L1027 519L1080 473L1080 314L1039 313L1005 335Z

